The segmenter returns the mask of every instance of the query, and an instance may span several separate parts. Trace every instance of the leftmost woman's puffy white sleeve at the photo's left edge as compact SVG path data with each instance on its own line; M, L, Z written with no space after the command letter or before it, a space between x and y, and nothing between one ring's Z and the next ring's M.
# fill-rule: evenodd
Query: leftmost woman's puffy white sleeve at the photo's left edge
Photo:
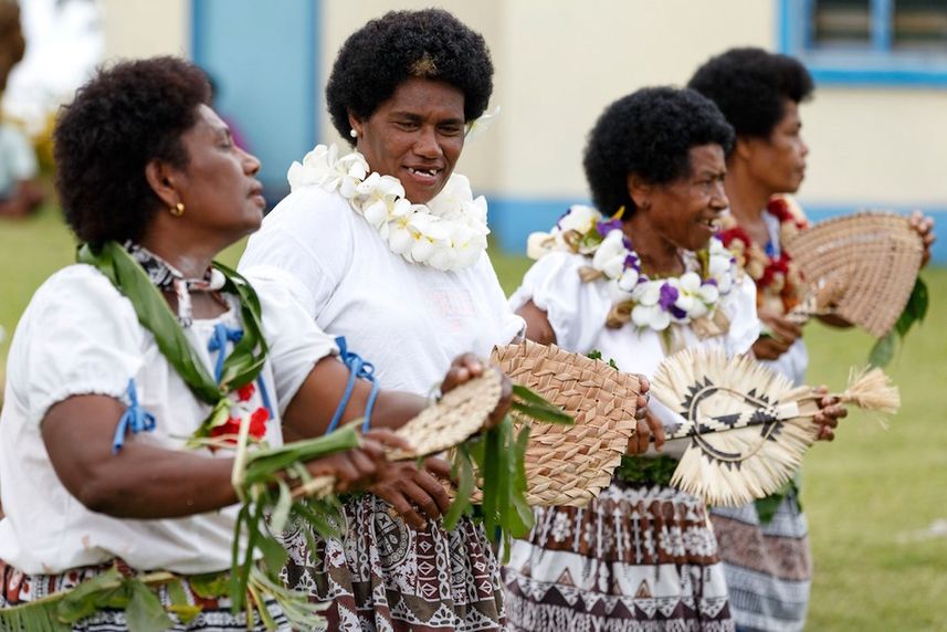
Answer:
M10 379L30 420L41 422L72 396L124 401L141 367L144 336L131 303L98 271L73 265L53 275L33 296L11 348Z

